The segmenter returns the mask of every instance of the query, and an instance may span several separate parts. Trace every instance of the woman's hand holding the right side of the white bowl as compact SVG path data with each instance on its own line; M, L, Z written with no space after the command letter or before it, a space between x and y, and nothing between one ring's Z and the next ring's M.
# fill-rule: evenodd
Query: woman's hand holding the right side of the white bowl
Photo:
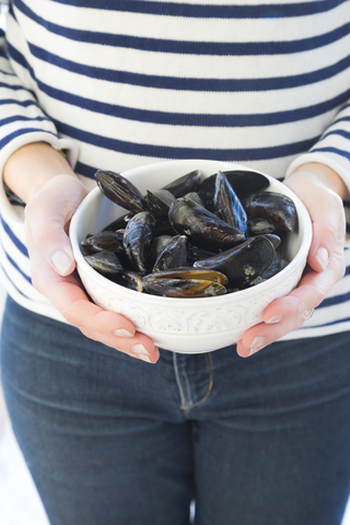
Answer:
M245 331L237 353L248 357L299 328L345 273L346 221L341 178L323 164L304 164L284 182L304 202L313 224L307 267L298 288L264 311L264 323Z

